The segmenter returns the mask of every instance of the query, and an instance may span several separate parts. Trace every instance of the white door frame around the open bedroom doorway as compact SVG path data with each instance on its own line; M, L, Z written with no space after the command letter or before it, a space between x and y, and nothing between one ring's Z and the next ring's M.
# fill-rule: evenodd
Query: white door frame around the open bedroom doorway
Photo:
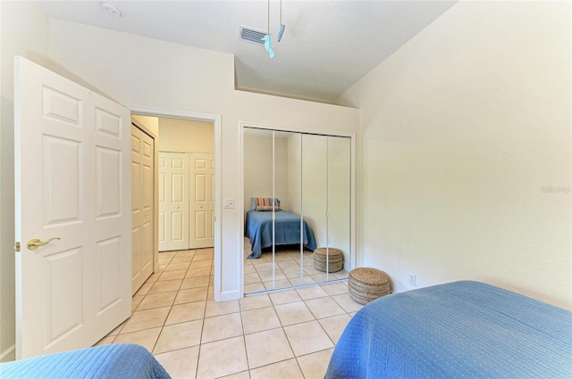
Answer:
M196 111L155 108L148 106L125 104L131 113L150 117L170 117L174 119L194 119L209 121L214 124L214 301L222 301L221 296L221 115ZM158 144L156 144L158 149ZM158 150L157 150L158 158ZM158 184L157 184L158 185ZM158 194L158 188L157 193ZM158 263L158 197L156 196L156 264Z

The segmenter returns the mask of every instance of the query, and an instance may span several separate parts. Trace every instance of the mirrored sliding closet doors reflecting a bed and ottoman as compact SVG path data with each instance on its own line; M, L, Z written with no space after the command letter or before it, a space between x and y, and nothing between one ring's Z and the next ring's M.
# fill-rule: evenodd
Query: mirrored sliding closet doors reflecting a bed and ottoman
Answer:
M324 283L351 266L351 140L243 128L244 292Z

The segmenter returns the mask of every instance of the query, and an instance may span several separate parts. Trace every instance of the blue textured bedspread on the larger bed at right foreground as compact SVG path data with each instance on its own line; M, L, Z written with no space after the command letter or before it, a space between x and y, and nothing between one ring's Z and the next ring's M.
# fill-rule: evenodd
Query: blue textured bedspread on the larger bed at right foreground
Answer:
M327 379L571 378L572 312L462 281L372 301L351 318Z

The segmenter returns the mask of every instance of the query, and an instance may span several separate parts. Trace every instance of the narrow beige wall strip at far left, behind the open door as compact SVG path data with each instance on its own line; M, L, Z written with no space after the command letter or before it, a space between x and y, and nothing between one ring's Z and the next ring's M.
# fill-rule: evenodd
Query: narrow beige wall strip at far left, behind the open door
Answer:
M48 19L28 2L0 2L0 361L15 357L13 57L47 62Z

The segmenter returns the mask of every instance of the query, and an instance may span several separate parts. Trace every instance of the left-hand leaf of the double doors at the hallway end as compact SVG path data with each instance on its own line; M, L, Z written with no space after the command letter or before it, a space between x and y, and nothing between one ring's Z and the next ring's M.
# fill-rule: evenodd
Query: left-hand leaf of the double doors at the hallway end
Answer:
M189 249L189 159L159 152L159 251Z

